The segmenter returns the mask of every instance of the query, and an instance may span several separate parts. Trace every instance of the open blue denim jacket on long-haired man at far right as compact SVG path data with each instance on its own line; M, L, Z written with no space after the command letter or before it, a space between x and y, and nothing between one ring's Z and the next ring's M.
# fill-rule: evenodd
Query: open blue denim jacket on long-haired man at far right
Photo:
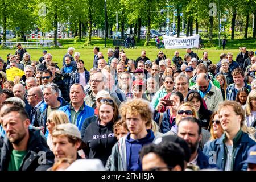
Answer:
M224 143L225 133L221 138L213 140L208 146L204 147L203 153L210 158L217 167L224 170L226 163L226 151ZM233 171L247 170L247 163L241 164L247 159L247 151L256 142L252 140L247 133L242 132L238 144L233 148Z

